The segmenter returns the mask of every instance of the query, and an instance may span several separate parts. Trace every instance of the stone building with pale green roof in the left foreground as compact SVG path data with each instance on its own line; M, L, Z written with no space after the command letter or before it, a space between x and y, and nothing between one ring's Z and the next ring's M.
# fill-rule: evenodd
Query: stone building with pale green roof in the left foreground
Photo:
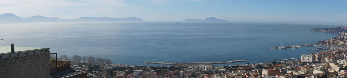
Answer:
M0 46L0 78L49 77L49 48Z

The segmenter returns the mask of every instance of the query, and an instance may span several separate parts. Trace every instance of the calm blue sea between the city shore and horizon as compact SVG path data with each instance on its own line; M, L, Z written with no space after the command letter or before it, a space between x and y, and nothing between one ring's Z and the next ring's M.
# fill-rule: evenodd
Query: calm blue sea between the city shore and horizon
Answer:
M300 57L315 47L268 49L283 45L312 44L336 33L310 29L336 25L248 23L248 22L47 22L0 24L0 45L48 47L51 53L94 56L130 65L152 62L264 63L272 59ZM230 23L230 24L228 24Z

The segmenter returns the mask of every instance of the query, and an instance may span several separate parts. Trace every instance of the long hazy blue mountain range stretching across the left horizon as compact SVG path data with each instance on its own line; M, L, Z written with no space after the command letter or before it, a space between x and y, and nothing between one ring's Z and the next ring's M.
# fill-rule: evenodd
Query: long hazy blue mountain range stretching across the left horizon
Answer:
M20 18L13 13L5 13L0 15L0 23L25 23L25 22L67 22L67 21L143 21L140 18L96 18L96 17L81 17L78 19L59 19L58 17L49 18L45 16L31 16L29 18Z

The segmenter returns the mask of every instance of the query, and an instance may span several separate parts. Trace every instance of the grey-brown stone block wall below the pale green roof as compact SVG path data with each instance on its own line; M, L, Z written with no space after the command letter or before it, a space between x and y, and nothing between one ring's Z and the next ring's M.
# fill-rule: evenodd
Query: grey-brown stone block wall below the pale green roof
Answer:
M44 50L43 52L41 52ZM36 53L12 56L0 59L0 78L49 78L49 48L37 50ZM17 55L17 53L13 53Z

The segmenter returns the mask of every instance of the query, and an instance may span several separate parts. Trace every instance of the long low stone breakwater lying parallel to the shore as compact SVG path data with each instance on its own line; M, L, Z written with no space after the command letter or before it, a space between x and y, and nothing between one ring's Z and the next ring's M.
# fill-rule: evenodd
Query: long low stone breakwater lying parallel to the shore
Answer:
M143 62L143 63L154 63L154 64L165 64L165 65L177 65L177 64L225 64L234 62L246 62L246 60L233 60L229 62L193 62L193 63L164 63L164 62Z

